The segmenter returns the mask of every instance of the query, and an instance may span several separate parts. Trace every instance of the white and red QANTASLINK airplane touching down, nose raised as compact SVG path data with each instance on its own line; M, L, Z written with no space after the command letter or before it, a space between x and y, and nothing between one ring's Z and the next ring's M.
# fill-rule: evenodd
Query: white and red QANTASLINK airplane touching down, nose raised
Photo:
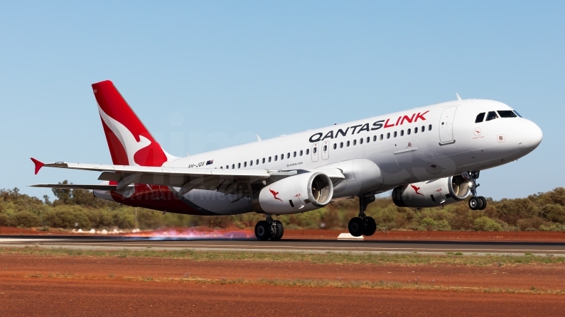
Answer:
M481 170L519 159L542 142L542 130L499 101L457 100L335 124L269 140L175 157L161 147L109 80L92 84L112 165L53 162L42 167L101 172L98 185L36 184L89 189L101 199L191 215L263 213L258 240L280 240L284 214L359 197L351 235L375 233L365 214L375 195L392 189L394 204L434 207L477 194Z

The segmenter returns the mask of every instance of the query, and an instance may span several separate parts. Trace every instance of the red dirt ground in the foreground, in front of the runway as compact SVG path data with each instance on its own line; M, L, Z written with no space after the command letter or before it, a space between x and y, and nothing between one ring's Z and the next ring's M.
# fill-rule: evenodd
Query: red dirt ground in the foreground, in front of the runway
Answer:
M420 277L419 284L442 286L565 289L565 265L328 265L3 254L0 316L563 316L565 303L563 295L134 282L124 277L402 283Z

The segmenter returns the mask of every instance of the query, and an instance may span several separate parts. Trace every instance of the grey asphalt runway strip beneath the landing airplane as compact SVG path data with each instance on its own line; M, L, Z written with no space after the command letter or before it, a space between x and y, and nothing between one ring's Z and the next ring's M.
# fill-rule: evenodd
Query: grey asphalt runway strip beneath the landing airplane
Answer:
M37 247L71 248L88 250L215 250L254 252L426 252L446 254L520 254L565 256L565 243L551 242L466 242L466 241L425 241L425 240L299 240L258 241L198 240L183 238L134 238L134 237L68 237L68 236L14 236L0 235L0 248Z

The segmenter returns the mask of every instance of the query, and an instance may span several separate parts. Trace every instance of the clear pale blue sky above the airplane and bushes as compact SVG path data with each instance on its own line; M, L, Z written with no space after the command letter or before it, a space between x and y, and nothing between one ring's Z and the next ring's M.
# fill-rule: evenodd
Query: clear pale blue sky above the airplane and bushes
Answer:
M111 163L90 84L111 79L183 156L455 99L544 132L479 194L564 186L563 1L0 1L0 188L97 184Z

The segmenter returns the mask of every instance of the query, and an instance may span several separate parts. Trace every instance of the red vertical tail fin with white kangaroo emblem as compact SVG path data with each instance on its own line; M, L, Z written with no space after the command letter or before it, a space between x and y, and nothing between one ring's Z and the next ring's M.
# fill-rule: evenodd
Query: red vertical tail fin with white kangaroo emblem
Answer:
M167 154L109 80L92 84L114 165L161 166Z

